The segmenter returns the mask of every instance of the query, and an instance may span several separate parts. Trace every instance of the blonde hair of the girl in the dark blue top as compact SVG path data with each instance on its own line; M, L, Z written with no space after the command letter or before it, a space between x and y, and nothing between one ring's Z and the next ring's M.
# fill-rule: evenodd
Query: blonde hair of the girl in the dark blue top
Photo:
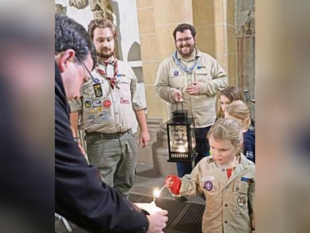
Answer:
M246 103L241 100L236 100L227 106L226 112L232 117L235 117L242 121L246 120L245 130L249 129L251 125L251 118L250 110Z

